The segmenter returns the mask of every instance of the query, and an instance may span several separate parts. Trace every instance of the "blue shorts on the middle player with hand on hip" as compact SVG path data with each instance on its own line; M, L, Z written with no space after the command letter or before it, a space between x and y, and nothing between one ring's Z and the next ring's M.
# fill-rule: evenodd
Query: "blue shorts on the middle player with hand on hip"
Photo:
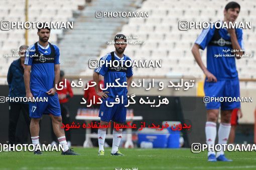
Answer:
M109 105L109 102L115 101L115 97L108 96L106 99L102 99L102 103L100 104L99 108L100 120L106 122L112 120L115 122L124 123L126 120L126 107L124 105L127 105L127 98L123 98L123 104L114 104L112 107L108 107L106 105L106 101Z

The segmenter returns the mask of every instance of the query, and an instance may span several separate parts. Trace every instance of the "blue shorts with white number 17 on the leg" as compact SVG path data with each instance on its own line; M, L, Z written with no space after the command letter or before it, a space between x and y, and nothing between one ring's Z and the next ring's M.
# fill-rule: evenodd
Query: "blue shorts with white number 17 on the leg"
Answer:
M54 95L49 95L45 91L38 89L31 90L34 97L48 97L48 102L29 102L29 116L32 118L40 118L43 114L52 114L61 116L60 102L57 92Z

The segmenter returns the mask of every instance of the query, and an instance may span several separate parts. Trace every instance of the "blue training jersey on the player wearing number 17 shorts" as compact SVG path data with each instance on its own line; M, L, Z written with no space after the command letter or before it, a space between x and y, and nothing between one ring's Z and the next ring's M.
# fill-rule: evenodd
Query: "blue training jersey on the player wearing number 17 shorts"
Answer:
M26 52L25 65L31 65L30 88L46 92L54 87L54 65L60 63L60 51L54 44L51 46L49 43L43 47L38 42L36 43L40 56L35 56L35 44L31 45Z

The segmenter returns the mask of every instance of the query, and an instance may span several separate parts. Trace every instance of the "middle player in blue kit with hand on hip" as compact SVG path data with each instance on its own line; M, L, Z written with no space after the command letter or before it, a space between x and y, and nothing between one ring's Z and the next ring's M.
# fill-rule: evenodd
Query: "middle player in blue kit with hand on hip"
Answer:
M100 105L99 117L100 117L100 125L107 125L110 120L114 121L116 124L123 124L126 120L126 107L124 105L127 104L127 92L128 88L133 79L133 70L132 66L126 67L127 65L121 65L121 62L124 63L125 60L131 60L129 56L123 54L124 49L127 45L126 36L123 34L117 34L114 38L114 47L115 51L107 53L105 56L101 57L100 60L104 60L105 63L112 62L114 60L119 61L119 66L113 67L110 64L100 65L98 68L94 70L93 80L98 84L99 83L99 74L104 76L104 87L106 87L107 83L114 83L117 85L115 79L118 79L120 84L123 82L127 82L127 87L108 87L106 90L100 91L98 85L94 86L97 95L102 98L102 103ZM121 61L123 60L123 61ZM116 65L115 65L116 66ZM123 102L116 103L113 106L107 106L107 103L114 102L115 98L119 97L120 100L123 97ZM98 144L99 151L98 155L104 155L104 141L106 137L106 128L98 129ZM123 155L118 146L120 144L122 137L122 128L113 129L113 143L111 155Z

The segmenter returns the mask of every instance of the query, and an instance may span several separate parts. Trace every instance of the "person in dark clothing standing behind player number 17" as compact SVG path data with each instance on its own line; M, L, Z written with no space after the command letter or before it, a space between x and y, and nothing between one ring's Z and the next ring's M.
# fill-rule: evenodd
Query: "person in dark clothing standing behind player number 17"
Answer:
M24 84L24 61L25 52L29 46L20 46L20 58L14 60L8 70L7 81L9 85L9 97L25 97L26 90ZM9 102L9 143L16 144L16 127L19 120L20 112L22 111L26 125L29 129L29 105L25 102ZM24 132L24 136L28 135L29 131ZM22 135L21 135L22 136Z

